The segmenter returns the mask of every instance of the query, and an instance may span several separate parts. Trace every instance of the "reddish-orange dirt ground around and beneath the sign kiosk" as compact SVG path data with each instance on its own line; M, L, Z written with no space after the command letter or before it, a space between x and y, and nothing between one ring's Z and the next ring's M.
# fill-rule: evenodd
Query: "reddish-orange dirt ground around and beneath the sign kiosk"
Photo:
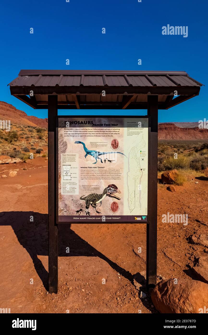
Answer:
M17 169L16 177L1 178ZM205 248L189 244L187 237L207 232L208 180L192 178L176 193L158 189L158 275L165 278L194 278L194 257L204 255ZM59 292L47 294L47 160L0 165L0 186L0 308L11 313L156 313L149 295L140 299L133 284L133 276L146 269L145 224L59 225ZM162 223L167 212L187 213L188 225Z

